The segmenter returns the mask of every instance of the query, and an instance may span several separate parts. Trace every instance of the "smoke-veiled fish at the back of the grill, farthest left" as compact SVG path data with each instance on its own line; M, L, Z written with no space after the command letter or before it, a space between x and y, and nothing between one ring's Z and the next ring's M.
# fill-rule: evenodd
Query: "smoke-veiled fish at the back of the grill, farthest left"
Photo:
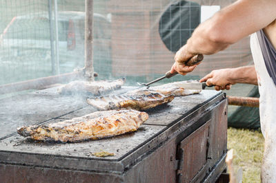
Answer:
M59 94L94 94L101 95L110 92L114 89L121 88L124 85L126 78L117 80L74 80L67 85L63 85L58 89Z

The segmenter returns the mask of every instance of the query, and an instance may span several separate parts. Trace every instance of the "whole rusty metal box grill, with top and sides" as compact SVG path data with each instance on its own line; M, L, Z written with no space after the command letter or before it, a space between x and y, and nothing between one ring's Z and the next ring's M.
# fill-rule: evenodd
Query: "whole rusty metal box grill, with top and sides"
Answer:
M215 182L226 168L226 97L210 90L150 109L138 131L113 138L63 144L16 133L93 111L56 88L2 99L1 182ZM91 155L101 150L115 156Z

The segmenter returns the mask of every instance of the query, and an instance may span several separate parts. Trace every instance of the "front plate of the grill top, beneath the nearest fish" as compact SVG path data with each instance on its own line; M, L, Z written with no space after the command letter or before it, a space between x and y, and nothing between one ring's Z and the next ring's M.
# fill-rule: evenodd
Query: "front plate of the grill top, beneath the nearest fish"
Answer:
M135 133L126 133L112 138L74 143L36 142L30 138L23 138L16 134L10 138L1 140L0 148L2 151L17 151L20 153L61 155L64 157L93 158L97 160L117 160L128 152L133 151L136 147L139 147L139 145L164 128L164 126L157 125L141 125ZM91 154L100 151L115 153L115 155L97 158Z

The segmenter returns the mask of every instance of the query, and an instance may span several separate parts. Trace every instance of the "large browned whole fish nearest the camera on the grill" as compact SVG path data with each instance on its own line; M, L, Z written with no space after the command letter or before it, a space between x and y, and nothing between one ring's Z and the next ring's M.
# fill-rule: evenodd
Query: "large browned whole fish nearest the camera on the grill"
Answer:
M17 133L30 136L33 140L77 142L137 131L147 119L146 112L132 109L97 111L48 125L18 127Z

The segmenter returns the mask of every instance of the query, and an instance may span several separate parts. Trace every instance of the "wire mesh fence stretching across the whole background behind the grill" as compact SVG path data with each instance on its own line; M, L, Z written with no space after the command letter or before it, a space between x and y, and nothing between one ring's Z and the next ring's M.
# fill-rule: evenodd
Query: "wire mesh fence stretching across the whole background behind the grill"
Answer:
M136 85L162 76L197 25L233 2L95 0L97 79L124 76L129 85ZM0 85L83 67L84 11L84 0L0 0ZM252 64L246 37L223 52L205 56L187 76L162 82L199 79L213 69ZM246 96L252 88L235 85L228 94Z

